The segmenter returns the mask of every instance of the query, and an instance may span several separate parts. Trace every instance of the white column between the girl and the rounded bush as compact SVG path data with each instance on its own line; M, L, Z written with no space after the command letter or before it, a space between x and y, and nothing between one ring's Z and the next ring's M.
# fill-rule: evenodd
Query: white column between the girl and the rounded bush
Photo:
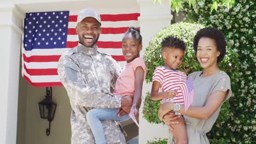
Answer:
M148 43L153 39L154 35L171 24L171 8L168 3L159 4L153 3L153 0L137 0L140 5L139 25L141 27L143 51L144 55ZM143 97L147 92L151 91L152 83L143 83ZM144 99L143 99L144 100ZM142 101L141 112L144 101ZM147 143L148 140L153 140L154 137L168 137L168 129L162 124L151 124L142 118L142 113L139 116L139 143Z

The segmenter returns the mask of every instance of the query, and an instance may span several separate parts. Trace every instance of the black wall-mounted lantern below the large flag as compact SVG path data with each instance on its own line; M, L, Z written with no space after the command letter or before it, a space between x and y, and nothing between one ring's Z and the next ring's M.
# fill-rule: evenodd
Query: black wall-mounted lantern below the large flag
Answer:
M48 119L49 121L49 128L46 129L46 135L50 135L51 130L51 121L54 119L54 114L57 105L51 100L51 87L46 87L46 95L44 100L38 103L39 105L39 111L40 111L40 117L43 119Z

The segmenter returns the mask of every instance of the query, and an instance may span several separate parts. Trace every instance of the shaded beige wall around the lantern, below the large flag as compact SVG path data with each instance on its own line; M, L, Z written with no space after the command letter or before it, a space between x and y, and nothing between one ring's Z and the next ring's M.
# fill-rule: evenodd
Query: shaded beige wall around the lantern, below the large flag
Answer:
M57 104L57 109L54 120L51 122L50 135L45 134L49 122L40 118L38 107L38 102L46 95L45 89L29 85L20 76L17 144L71 143L71 106L63 87L53 87L53 101Z

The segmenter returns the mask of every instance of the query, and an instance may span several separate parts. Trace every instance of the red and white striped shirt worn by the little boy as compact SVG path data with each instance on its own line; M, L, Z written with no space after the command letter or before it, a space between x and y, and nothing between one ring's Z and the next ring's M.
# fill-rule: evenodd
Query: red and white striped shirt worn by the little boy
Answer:
M172 70L164 66L160 66L154 71L153 82L154 81L158 81L160 83L160 89L162 92L174 91L184 85L184 83L187 81L187 75L182 71ZM184 104L182 90L179 89L174 98L164 98L162 101Z

